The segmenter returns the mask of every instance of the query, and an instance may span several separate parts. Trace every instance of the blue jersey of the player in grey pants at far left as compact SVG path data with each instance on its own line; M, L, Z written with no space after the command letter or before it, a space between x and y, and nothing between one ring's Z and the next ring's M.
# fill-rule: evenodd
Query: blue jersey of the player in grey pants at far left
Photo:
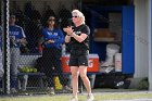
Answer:
M17 25L10 25L9 26L9 35L10 38L12 38L13 40L17 40L17 39L22 39L25 38L25 34L24 30L21 26ZM20 47L20 43L16 43L16 46L14 45L10 45L11 47Z

